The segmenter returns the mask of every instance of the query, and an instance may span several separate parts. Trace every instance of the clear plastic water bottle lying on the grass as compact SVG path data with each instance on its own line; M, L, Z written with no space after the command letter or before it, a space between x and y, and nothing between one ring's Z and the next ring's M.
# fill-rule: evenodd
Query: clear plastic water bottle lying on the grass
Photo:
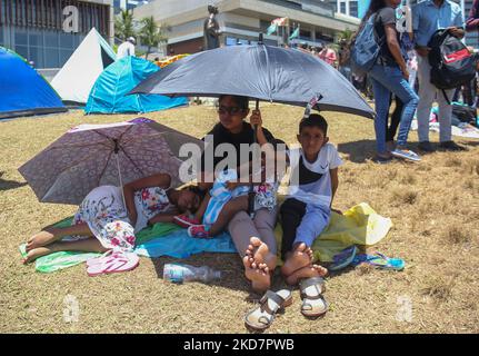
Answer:
M221 271L208 266L194 267L183 264L167 264L163 267L163 280L172 283L183 283L201 280L210 283L221 278Z

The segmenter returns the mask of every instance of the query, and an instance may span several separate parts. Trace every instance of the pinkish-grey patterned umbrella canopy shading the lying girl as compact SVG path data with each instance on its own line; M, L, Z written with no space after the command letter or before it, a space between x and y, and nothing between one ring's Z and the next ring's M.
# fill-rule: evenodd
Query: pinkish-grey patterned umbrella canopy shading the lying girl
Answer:
M148 119L80 125L19 171L40 201L79 205L96 187L159 172L169 174L172 185L180 182L179 150L189 142L203 148L201 140Z

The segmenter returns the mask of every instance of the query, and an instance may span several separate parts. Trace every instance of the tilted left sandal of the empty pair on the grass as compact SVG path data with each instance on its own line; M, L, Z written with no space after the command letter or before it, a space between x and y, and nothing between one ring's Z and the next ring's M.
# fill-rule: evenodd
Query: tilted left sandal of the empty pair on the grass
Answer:
M278 310L291 305L292 293L289 289L267 290L259 300L260 305L245 316L245 324L255 330L267 329Z

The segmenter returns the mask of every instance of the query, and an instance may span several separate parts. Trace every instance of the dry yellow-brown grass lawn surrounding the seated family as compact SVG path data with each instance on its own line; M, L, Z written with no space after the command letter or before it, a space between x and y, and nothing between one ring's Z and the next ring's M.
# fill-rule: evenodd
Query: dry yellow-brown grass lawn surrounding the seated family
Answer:
M275 136L288 145L297 142L301 108L261 103L261 113ZM318 320L300 315L295 290L293 305L267 333L478 333L479 316L471 313L479 300L477 141L469 151L423 155L413 165L400 160L375 165L371 120L323 115L330 141L345 160L333 207L346 210L365 201L390 217L393 229L373 249L403 258L407 268L392 273L362 265L329 277L325 297L332 309ZM202 106L146 116L194 137L202 137L217 121L216 109ZM226 277L213 285L163 283L163 265L177 260L169 257L141 258L131 273L96 278L87 276L84 266L44 275L33 265L20 264L18 246L43 226L71 216L76 207L38 202L17 169L73 126L134 117L71 111L0 121L1 333L247 333L242 318L259 296L249 289L237 254L199 254L180 260L222 270ZM409 140L415 147L417 134L411 132ZM432 132L431 141L438 140ZM461 231L471 231L470 240ZM460 248L462 241L467 248ZM445 270L460 275L451 283ZM277 274L272 288L281 287ZM80 304L78 323L63 320L67 295ZM402 295L415 303L412 323L396 320L397 297Z

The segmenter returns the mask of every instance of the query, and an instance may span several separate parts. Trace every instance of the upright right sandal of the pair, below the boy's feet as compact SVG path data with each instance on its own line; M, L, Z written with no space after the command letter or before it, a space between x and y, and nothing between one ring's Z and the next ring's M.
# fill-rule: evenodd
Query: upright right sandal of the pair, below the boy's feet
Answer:
M328 312L328 303L322 293L325 293L325 279L321 277L311 277L302 279L299 283L301 291L301 314L307 317L319 317Z

